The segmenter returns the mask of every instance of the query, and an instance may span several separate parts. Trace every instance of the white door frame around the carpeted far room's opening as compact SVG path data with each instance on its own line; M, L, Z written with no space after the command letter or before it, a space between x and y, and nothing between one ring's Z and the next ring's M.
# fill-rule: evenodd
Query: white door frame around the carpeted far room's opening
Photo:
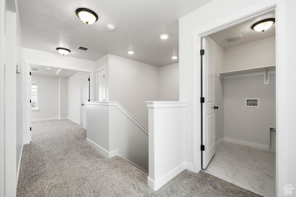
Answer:
M92 69L84 69L84 68L79 68L79 67L75 67L75 66L65 66L65 65L59 65L59 64L52 64L52 63L47 63L47 62L40 62L40 61L33 61L33 60L27 60L24 59L24 63L25 63L25 70L26 70L26 74L25 74L25 81L26 81L26 95L25 95L25 100L26 100L26 131L24 133L24 144L29 144L31 141L31 131L30 131L30 127L31 127L31 118L30 118L30 66L34 65L34 66L45 66L45 67L50 67L50 68L56 68L56 69L65 69L65 70L73 70L73 71L78 71L78 72L87 72L89 73L89 77L90 77L90 100L94 101L94 70ZM25 138L26 136L26 138Z

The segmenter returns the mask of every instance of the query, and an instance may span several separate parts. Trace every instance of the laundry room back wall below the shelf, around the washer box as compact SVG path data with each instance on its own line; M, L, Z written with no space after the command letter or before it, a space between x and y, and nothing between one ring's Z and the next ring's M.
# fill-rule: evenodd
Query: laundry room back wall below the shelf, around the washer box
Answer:
M263 75L224 79L224 134L237 139L269 146L269 126L276 126L276 77L269 84ZM259 98L259 108L245 108L245 98ZM268 147L267 147L268 149Z

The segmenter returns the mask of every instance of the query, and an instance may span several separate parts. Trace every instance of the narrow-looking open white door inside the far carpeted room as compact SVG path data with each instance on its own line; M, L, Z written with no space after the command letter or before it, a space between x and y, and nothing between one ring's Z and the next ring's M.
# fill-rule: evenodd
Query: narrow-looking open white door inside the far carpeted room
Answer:
M85 102L89 100L89 76L86 75L81 79L81 120L83 128L86 130L86 104Z

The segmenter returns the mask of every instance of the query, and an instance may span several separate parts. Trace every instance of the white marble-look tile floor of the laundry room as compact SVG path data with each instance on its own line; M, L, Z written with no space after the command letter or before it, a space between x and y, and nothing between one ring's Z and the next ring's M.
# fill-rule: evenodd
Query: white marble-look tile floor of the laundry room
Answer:
M276 152L223 142L202 171L261 196L276 196Z

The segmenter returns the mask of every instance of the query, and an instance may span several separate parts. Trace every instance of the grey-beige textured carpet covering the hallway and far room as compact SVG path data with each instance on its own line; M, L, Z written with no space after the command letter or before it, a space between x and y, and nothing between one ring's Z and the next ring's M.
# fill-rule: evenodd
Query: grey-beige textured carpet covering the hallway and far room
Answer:
M17 196L259 196L205 172L188 170L153 191L146 173L120 157L105 157L85 139L86 131L70 120L32 122Z

